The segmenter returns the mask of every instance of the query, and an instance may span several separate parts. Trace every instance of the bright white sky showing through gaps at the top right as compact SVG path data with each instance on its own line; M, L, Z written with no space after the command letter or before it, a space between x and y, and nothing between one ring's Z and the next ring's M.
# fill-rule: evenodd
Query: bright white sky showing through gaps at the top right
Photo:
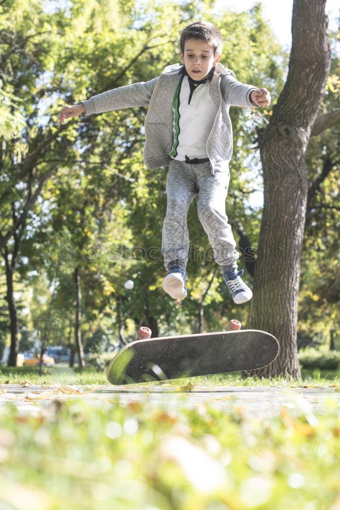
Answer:
M250 9L255 0L219 0L218 6L230 8L237 12ZM291 46L291 21L293 0L262 0L264 17L273 29L279 42L284 46ZM334 30L337 27L339 16L339 0L327 0L326 13L329 17L329 28Z

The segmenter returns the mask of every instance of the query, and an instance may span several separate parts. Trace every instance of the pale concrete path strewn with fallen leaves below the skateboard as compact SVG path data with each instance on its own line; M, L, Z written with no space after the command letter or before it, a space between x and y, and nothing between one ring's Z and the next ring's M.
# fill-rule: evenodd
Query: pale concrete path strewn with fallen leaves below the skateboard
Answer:
M0 410L6 402L12 402L20 412L30 414L45 408L52 400L70 399L100 406L150 403L166 409L210 404L226 411L242 407L247 414L263 417L277 416L286 407L292 414L305 415L309 421L308 416L327 413L328 405L340 409L340 387L203 387L190 383L188 386L0 385Z

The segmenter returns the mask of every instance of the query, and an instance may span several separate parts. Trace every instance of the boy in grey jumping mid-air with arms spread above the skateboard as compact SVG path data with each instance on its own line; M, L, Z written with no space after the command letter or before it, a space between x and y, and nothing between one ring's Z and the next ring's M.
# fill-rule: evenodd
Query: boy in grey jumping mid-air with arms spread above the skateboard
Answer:
M199 220L214 250L235 303L252 297L238 271L231 227L225 212L230 179L232 127L229 107L267 107L265 88L245 85L220 64L222 36L207 21L193 21L180 35L180 60L158 78L95 95L80 105L65 106L62 123L82 113L108 112L148 106L143 159L147 168L169 166L167 212L162 231L162 254L168 272L163 289L173 299L187 296L189 257L187 215L197 195Z

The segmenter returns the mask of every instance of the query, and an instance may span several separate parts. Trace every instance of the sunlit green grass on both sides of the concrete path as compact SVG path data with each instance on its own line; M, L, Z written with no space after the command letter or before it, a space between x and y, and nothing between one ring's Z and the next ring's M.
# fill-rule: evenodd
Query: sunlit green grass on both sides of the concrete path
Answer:
M333 378L330 378L333 377ZM106 385L104 372L0 368L0 384ZM201 386L339 385L338 373L303 379L195 377ZM180 384L180 380L172 381ZM185 380L187 382L187 380ZM156 384L156 383L155 383ZM0 386L0 390L1 387ZM337 389L336 389L337 390ZM0 407L0 510L335 510L340 499L340 412L285 406L274 418L238 404L190 409L115 395ZM28 411L25 411L27 409Z

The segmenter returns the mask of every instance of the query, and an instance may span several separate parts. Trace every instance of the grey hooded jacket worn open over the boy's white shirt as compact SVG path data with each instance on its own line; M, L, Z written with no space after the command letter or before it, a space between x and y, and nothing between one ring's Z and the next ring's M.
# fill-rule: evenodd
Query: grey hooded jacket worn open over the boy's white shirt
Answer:
M95 95L83 101L85 115L148 106L145 117L144 163L149 169L168 166L173 144L172 100L180 80L178 71L181 67L178 64L171 65L166 67L158 78L148 82L126 85ZM206 144L213 174L229 169L232 155L229 107L253 108L255 105L250 100L253 90L256 90L256 87L238 82L233 71L220 63L217 65L209 92L218 112Z

